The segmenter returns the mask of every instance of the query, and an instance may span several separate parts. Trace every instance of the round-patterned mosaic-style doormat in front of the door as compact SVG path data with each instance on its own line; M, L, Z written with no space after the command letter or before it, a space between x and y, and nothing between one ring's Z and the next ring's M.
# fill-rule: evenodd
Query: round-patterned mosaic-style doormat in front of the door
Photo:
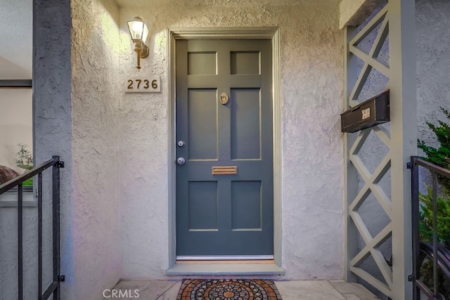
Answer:
M282 300L272 280L185 279L176 300Z

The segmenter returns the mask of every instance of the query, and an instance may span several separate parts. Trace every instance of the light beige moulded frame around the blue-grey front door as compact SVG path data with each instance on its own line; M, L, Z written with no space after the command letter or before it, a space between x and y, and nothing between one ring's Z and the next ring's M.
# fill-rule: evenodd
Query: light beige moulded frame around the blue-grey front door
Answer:
M169 270L176 265L176 39L271 39L272 44L272 114L274 147L274 263L281 270L281 35L278 27L193 27L169 28L167 30L168 86L168 220L169 220ZM241 265L241 266L245 266ZM168 275L179 275L170 272ZM278 270L277 273L281 273ZM240 273L239 271L231 273ZM260 273L260 272L259 272ZM269 272L274 273L274 272Z

